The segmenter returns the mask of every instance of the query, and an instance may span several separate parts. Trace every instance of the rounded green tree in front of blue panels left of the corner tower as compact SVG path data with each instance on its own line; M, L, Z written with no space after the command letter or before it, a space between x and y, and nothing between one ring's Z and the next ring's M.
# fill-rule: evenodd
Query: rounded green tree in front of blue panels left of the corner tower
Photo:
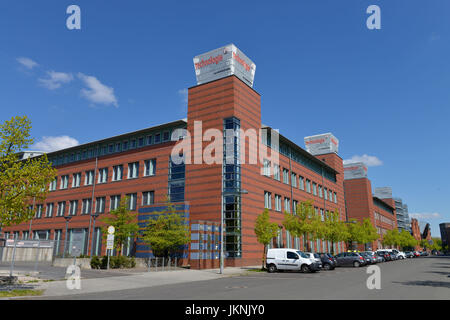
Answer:
M167 199L166 207L147 221L142 241L151 247L155 256L168 257L190 242L188 219L176 211L176 206Z

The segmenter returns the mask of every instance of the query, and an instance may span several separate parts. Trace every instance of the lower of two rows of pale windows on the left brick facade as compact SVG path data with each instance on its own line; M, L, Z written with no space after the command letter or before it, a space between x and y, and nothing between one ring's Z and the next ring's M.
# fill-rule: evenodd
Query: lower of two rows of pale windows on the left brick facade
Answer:
M127 201L127 209L134 211L136 210L137 205L137 193L129 193L126 195L128 197ZM109 197L109 211L115 210L119 207L121 195L113 195ZM69 200L69 201L60 201L56 204L56 216L63 217L66 212L66 207L68 203L68 212L69 216L75 216L78 213L78 208L81 206L80 213L81 214L90 214L92 210L92 199L82 199L80 200ZM80 203L80 204L79 204ZM142 192L142 205L148 206L155 203L155 192L154 191L145 191ZM106 197L96 197L95 198L95 213L104 213L106 208ZM33 210L33 206L29 207L30 210ZM44 208L42 204L37 204L35 208L35 218L40 219L44 213ZM55 204L53 202L47 203L45 207L45 217L51 218L53 217L55 210Z

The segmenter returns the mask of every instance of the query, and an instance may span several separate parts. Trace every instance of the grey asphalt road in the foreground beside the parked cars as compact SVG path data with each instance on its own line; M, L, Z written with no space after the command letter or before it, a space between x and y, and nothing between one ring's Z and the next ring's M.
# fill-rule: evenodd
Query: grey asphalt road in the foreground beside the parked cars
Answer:
M80 293L57 299L450 299L450 257L420 257L378 266L381 289L372 290L366 285L370 276L367 267L360 267L315 274L247 272L208 281Z

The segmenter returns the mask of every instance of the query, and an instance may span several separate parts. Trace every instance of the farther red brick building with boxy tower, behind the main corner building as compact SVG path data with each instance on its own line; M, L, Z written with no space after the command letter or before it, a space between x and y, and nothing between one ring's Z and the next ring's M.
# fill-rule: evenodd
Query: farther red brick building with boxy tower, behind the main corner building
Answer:
M397 228L393 199L381 199L372 194L372 185L367 178L367 167L363 163L346 164L344 172L345 203L348 219L362 222L365 218L369 218L372 225L376 227L380 238L368 245L368 247L372 250L383 248L383 235L387 230ZM360 246L359 249L365 250L366 248Z

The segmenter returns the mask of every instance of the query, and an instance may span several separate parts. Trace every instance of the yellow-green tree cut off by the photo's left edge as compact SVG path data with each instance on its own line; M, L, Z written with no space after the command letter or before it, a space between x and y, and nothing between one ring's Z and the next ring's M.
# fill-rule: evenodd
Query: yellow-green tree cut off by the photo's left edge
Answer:
M18 152L33 144L30 130L26 116L0 124L0 228L32 219L30 204L45 200L56 175L45 154L19 160Z

